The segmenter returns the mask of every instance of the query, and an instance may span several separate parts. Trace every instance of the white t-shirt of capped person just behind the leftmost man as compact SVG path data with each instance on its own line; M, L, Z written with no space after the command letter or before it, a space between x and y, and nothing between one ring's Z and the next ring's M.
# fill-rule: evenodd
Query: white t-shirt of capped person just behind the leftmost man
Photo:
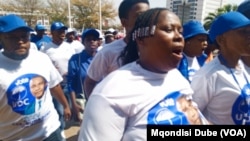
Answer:
M62 42L59 46L50 42L41 47L41 52L44 52L52 60L53 64L58 68L62 76L68 72L68 61L75 50L67 42Z

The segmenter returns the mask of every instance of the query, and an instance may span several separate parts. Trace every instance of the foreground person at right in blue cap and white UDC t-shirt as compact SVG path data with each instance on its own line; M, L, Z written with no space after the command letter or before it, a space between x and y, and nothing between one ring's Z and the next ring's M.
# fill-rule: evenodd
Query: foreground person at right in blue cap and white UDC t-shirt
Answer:
M250 21L239 12L222 14L209 37L219 54L193 77L194 101L213 124L250 124L250 77L240 60L250 55Z

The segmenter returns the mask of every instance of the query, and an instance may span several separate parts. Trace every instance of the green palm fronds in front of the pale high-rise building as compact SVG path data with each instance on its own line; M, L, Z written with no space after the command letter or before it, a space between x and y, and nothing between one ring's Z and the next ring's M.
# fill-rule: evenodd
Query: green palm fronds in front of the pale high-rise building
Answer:
M214 13L208 13L208 16L204 19L204 28L206 30L210 29L211 23L214 21L215 18L217 18L219 15L231 11L236 11L238 8L238 5L231 5L227 4L224 5L222 8L218 8Z

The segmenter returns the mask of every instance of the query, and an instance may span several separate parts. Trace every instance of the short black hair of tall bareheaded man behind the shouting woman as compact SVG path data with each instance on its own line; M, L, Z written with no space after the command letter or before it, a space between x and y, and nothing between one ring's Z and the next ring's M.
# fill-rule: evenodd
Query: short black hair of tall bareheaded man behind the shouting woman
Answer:
M128 16L128 12L130 11L130 9L137 3L146 3L149 5L149 1L148 0L123 0L119 6L118 9L118 14L119 14L119 18L127 18Z

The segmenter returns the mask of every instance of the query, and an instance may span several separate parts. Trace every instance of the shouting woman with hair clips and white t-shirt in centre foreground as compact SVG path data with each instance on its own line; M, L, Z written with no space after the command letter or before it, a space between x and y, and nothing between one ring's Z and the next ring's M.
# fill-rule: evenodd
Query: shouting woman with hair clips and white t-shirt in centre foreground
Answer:
M147 140L147 125L207 124L192 101L189 82L176 69L184 47L181 32L180 19L165 8L138 16L120 56L124 66L89 97L79 141Z

